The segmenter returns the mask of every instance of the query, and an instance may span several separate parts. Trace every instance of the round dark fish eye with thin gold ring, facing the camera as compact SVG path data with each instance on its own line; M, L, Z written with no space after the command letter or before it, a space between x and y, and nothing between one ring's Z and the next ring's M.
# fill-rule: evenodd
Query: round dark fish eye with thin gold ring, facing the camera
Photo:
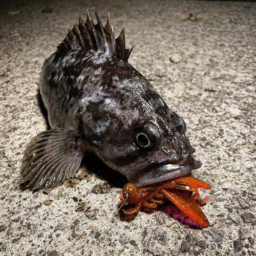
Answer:
M151 151L160 142L160 131L157 125L146 123L134 129L135 144L142 150Z

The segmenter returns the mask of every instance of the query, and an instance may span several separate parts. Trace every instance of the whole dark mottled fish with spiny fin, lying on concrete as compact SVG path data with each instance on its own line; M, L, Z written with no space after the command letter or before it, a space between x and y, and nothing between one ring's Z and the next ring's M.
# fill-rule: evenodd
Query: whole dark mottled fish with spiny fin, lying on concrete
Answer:
M39 91L51 130L27 144L20 166L32 189L72 179L86 152L125 175L136 187L200 168L186 124L128 59L124 28L115 38L110 14L103 27L87 10L45 60Z

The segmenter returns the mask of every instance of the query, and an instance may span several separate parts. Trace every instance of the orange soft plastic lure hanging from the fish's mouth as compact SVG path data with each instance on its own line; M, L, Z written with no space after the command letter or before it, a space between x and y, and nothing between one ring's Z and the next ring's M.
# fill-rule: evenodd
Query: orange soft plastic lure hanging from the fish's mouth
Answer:
M198 188L209 189L210 185L191 175L162 181L142 188L136 188L135 185L127 183L120 193L120 200L135 205L132 209L123 209L125 214L135 214L141 206L156 208L157 204L163 204L165 199L169 199L190 219L202 227L207 227L209 221L198 206L204 204L209 196L198 200ZM188 198L176 189L192 191L194 194Z

